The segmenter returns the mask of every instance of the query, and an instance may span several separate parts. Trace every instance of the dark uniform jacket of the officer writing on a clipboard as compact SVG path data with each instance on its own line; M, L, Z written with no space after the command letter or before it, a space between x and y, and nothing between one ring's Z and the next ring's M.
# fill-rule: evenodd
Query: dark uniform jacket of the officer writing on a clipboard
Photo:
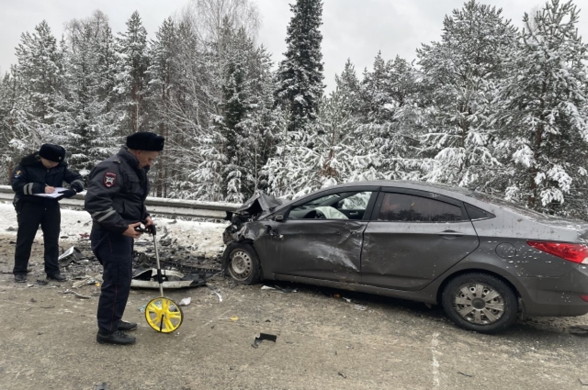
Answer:
M44 194L45 186L61 187L64 181L69 183L76 192L83 190L83 180L79 173L68 169L65 161L60 161L57 166L46 169L41 158L36 154L29 154L22 158L21 162L12 172L11 185L15 192L14 203L24 202L55 202L55 198L34 196Z

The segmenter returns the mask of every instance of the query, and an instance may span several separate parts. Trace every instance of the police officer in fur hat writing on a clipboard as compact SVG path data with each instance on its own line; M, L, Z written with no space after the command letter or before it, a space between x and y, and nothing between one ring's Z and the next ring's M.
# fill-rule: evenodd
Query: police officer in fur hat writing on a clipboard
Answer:
M55 187L69 183L69 190L61 191L58 197L42 197L37 194L51 194ZM59 145L45 143L39 152L23 157L11 177L15 192L14 207L18 220L16 250L12 273L16 282L25 282L35 234L41 225L45 246L45 273L48 279L64 281L59 272L59 225L61 213L59 199L72 197L83 190L83 180L76 172L68 169L65 149Z

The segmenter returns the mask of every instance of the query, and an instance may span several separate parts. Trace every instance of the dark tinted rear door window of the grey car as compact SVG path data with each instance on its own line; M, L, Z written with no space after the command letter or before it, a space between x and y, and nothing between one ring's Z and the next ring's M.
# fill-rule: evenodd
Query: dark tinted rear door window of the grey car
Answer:
M462 221L462 208L426 197L386 193L377 214L378 221L455 222Z

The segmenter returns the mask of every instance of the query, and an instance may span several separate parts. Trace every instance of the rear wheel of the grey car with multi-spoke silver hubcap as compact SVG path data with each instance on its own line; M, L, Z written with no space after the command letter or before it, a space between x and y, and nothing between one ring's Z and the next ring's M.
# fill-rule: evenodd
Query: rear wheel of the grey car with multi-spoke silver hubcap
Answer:
M450 280L441 302L447 317L456 325L487 334L505 330L519 313L519 301L512 288L482 273L458 275Z

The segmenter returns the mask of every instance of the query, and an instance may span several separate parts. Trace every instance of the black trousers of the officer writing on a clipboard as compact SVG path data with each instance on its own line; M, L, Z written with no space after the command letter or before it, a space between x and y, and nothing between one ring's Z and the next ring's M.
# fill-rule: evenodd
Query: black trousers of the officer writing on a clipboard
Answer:
M31 257L31 248L35 234L41 225L43 244L45 247L45 273L54 275L59 273L59 225L61 212L57 201L29 202L22 201L16 206L16 249L14 252L13 274L26 274Z

